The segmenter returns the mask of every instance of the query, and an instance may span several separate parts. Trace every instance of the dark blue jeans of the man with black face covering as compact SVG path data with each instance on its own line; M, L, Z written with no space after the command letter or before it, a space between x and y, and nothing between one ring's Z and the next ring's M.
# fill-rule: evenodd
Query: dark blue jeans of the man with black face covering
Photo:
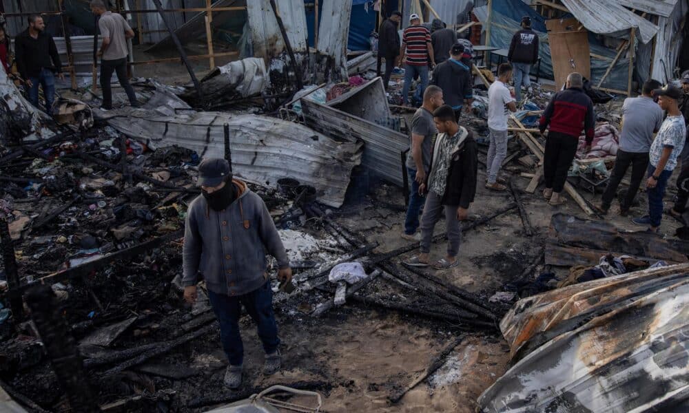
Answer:
M271 354L278 350L278 325L273 313L273 290L270 282L266 282L258 289L238 297L217 294L208 291L208 299L213 307L213 312L220 323L220 341L227 355L227 361L232 366L240 366L244 360L244 346L239 332L239 317L242 315L242 306L258 324L258 337L263 343L265 354Z

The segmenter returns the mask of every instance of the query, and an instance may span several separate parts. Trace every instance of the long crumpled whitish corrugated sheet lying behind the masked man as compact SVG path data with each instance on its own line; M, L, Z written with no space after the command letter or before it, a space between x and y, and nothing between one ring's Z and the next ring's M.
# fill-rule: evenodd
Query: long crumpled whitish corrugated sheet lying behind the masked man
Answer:
M156 96L161 94L156 91ZM163 96L158 102L165 99L174 102L175 97ZM167 105L107 112L94 109L94 116L107 119L110 126L151 149L178 145L202 158L225 157L223 125L227 124L237 176L267 187L276 187L280 178L296 178L315 187L319 202L331 207L345 201L351 170L362 157L360 142L336 142L304 125L268 116L175 112Z

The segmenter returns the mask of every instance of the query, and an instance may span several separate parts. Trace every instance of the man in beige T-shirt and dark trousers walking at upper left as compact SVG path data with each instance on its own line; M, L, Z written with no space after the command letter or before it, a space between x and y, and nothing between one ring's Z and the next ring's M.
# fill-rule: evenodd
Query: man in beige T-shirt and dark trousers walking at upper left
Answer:
M101 109L112 109L112 88L110 87L112 72L117 74L117 80L125 89L132 107L140 107L141 105L136 101L134 88L127 79L127 39L134 37L134 30L120 14L107 10L103 0L92 0L91 11L101 17L98 28L103 36L101 50L98 52L101 56L101 88L103 89Z

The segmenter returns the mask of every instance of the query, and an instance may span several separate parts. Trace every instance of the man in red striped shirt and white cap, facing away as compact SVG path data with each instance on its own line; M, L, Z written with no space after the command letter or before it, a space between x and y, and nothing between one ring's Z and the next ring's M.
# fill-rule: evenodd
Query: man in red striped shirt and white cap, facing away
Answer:
M429 85L429 60L431 69L435 67L435 54L431 44L431 32L421 25L418 14L409 17L411 25L404 29L402 47L400 47L400 61L404 62L404 87L402 88L402 105L409 101L409 88L415 75L421 78L420 92ZM404 60L405 56L407 60Z

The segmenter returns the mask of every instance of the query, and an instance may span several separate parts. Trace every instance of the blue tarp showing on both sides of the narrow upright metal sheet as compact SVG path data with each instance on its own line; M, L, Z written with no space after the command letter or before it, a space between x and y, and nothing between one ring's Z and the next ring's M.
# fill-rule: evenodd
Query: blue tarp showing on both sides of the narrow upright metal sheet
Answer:
M305 3L313 4L313 0L304 0ZM319 2L318 20L322 16L322 1ZM313 45L313 19L315 13L313 6L307 8L306 23L309 28L309 45ZM373 1L371 0L353 0L351 6L351 19L349 21L349 39L347 40L347 48L349 50L371 50L371 43L369 43L369 35L376 29L376 19L378 19L378 12L373 10ZM320 21L318 22L320 24Z

